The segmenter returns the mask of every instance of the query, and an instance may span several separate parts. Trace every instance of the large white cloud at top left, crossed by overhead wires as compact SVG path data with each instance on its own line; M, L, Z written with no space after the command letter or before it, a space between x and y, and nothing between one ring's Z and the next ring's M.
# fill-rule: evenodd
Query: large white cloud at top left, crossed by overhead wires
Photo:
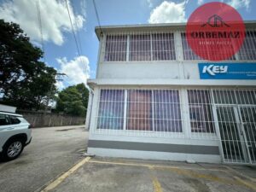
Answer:
M41 33L38 23L38 9L36 0L12 0L3 2L0 6L0 18L20 24L20 27L32 39L40 41ZM75 15L69 0L68 9L73 21L74 30L83 27L84 16ZM72 32L70 20L67 14L65 1L40 0L40 13L45 41L52 41L61 45L64 42L63 32ZM77 22L77 25L74 25Z

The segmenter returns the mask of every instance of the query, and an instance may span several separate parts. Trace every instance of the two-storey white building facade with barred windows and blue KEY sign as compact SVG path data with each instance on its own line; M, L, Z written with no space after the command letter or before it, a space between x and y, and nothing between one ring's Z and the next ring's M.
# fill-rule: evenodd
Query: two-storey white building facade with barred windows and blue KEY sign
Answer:
M218 62L195 55L185 24L96 27L88 153L256 164L256 22L245 24L239 52Z

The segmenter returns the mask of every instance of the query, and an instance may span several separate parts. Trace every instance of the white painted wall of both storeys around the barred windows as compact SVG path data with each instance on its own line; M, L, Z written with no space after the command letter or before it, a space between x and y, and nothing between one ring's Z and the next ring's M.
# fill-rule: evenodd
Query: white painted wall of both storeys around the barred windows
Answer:
M129 136L127 131L116 132L115 135L101 134L96 130L96 116L98 110L98 96L100 88L142 88L149 87L161 89L164 87L185 89L189 86L255 86L256 80L204 80L200 79L198 63L204 61L183 61L181 38L179 32L175 32L176 38L176 57L177 61L124 61L124 62L105 62L104 58L104 39L101 38L99 49L96 79L89 79L88 83L94 89L94 100L92 103L90 117L90 140L107 140L122 142L143 142L143 143L175 143L175 144L194 144L206 146L219 146L218 138L207 139L207 137L193 138L191 136L189 124L188 105L186 103L185 90L181 99L183 100L183 132L184 137L159 137L157 135L148 136ZM206 62L206 61L205 61ZM229 61L247 62L247 61ZM249 62L249 61L248 61ZM250 61L252 62L252 61ZM110 85L110 86L109 86ZM164 152L149 152L136 150L120 150L108 148L88 148L88 153L100 156L142 158L151 160L195 160L197 162L221 162L220 155L204 154L177 154Z

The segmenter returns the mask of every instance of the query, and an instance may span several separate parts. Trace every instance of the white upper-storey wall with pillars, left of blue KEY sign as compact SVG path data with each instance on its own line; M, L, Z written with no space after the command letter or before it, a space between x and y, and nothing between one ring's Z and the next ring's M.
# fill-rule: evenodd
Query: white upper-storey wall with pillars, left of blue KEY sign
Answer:
M132 79L163 79L169 81L177 79L192 79L207 82L206 79L200 79L198 63L208 61L183 61L183 49L180 32L175 31L174 37L177 61L104 61L106 39L106 35L104 35L101 38L99 46L96 79L115 79L114 81L117 83L119 82L119 79L127 79L129 81ZM221 63L224 62L236 63L253 61L221 61ZM218 80L217 82L225 81L229 80ZM238 84L240 84L239 82L244 82L244 80L237 79L233 81L234 83L238 82ZM253 81L253 84L256 84L256 80Z

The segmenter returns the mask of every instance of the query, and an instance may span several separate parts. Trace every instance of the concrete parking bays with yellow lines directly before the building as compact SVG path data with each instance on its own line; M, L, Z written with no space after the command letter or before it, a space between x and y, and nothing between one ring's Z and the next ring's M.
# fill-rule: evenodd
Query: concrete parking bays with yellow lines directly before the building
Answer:
M51 191L247 192L256 189L255 171L250 166L96 157Z

